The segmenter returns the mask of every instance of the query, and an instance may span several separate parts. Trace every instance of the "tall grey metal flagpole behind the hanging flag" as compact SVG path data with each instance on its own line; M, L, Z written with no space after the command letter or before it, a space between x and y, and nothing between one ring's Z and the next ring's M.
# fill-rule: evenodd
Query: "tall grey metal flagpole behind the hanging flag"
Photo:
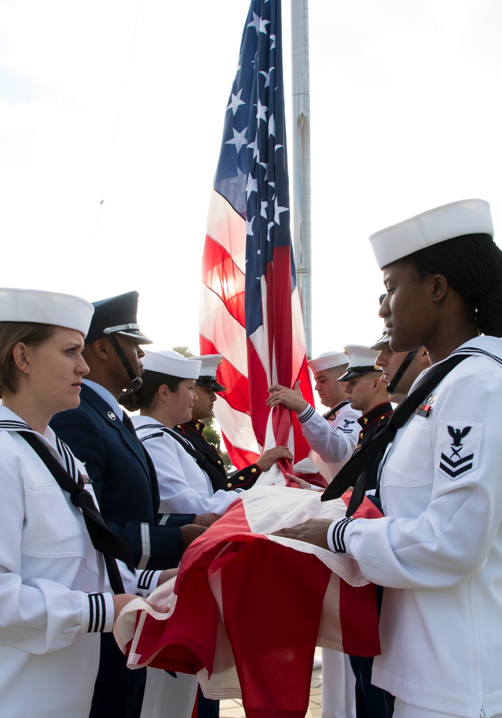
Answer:
M305 328L307 358L312 358L311 307L311 98L308 74L308 0L291 0L293 56L293 255Z

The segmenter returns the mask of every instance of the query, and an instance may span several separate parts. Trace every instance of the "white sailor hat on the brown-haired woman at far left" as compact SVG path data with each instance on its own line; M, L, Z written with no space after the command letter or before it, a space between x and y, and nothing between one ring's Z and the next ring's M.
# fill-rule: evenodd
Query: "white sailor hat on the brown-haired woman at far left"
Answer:
M42 289L0 289L0 322L34 322L76 329L85 336L94 307L72 294Z

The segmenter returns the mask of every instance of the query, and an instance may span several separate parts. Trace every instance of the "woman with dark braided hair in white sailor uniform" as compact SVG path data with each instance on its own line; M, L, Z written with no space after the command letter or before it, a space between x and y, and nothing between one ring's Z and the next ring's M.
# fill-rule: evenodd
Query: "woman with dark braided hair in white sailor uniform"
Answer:
M353 519L349 506L338 523L280 533L352 556L384 586L372 682L396 696L394 715L501 716L502 252L490 207L453 202L370 241L390 348L425 345L431 367L374 439L389 442L384 516ZM347 482L360 462L363 451Z

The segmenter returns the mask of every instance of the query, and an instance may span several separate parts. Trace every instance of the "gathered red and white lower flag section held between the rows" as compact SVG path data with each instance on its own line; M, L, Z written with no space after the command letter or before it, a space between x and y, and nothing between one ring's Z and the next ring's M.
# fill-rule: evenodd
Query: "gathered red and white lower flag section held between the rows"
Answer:
M248 718L303 718L316 645L379 653L373 584L354 559L270 536L308 518L343 518L350 493L255 486L186 549L176 580L124 608L114 633L128 666L196 673L204 695L242 697ZM369 501L356 517L382 516Z

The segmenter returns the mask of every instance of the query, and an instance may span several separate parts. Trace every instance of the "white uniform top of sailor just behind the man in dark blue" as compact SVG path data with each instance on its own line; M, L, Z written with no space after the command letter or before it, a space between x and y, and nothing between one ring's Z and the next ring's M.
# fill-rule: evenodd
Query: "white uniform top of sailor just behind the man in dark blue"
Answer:
M159 513L223 513L238 498L238 489L214 492L207 473L183 448L184 442L191 446L186 439L151 416L131 416L131 421L155 467Z

